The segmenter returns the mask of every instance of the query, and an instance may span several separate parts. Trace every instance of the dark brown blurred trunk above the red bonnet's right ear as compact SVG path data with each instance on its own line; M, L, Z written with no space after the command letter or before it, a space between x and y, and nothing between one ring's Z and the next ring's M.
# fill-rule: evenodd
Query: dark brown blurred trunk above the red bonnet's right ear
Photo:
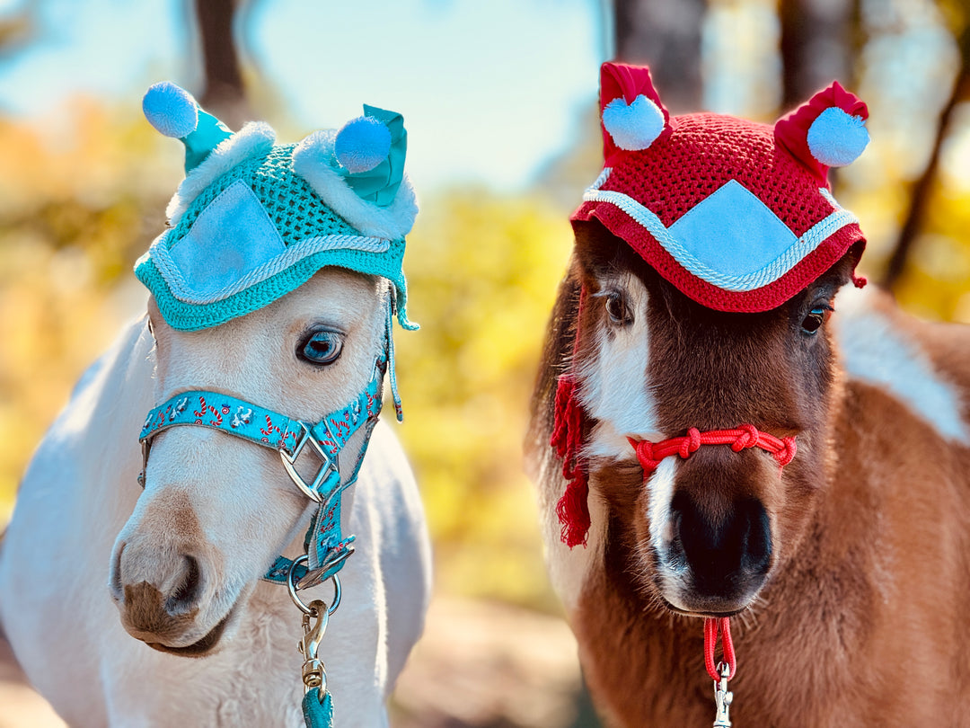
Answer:
M784 109L792 109L833 80L852 81L858 13L857 0L781 0Z

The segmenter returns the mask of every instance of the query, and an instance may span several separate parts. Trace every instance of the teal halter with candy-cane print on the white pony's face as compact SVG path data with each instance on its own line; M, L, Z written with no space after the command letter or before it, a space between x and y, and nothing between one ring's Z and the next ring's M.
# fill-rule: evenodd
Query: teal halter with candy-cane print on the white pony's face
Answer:
M307 498L320 506L307 531L308 568L302 564L293 567L290 559L279 556L264 579L286 583L290 569L295 568L295 577L300 579L300 588L321 583L337 574L354 550L351 546L354 537L343 538L340 531L340 494L357 480L364 461L371 432L380 414L380 384L386 366L386 358L382 356L376 359L371 381L364 391L346 407L325 415L315 424L290 418L228 394L210 391L181 392L146 416L139 437L145 464L139 481L144 485L152 438L170 427L209 427L250 443L275 449L279 452L290 480L293 480ZM364 442L357 462L350 477L341 483L340 450L362 429ZM312 452L320 460L316 475L308 481L295 467L305 451Z

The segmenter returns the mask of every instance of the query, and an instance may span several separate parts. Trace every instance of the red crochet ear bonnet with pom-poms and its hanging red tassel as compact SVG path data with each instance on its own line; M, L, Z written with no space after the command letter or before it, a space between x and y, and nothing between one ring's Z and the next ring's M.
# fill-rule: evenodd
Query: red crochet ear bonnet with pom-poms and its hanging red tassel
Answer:
M598 219L697 303L776 308L865 245L827 180L829 167L851 163L869 141L865 104L839 83L772 126L670 116L647 68L604 63L599 110L603 171L573 223ZM590 524L574 390L570 374L560 378L553 435L568 480L557 507L568 546L585 543Z

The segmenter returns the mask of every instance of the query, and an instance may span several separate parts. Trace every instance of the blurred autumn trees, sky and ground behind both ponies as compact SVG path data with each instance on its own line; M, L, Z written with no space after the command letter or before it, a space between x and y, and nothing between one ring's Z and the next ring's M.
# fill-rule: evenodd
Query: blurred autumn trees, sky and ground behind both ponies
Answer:
M520 443L613 57L649 62L675 112L770 122L832 79L856 91L872 144L834 185L868 234L863 272L916 314L970 320L966 0L0 0L0 527L72 384L145 309L132 264L182 177L146 87L283 142L393 109L422 206L398 432L436 546L393 724L597 726ZM58 725L18 680L0 672L0 728Z

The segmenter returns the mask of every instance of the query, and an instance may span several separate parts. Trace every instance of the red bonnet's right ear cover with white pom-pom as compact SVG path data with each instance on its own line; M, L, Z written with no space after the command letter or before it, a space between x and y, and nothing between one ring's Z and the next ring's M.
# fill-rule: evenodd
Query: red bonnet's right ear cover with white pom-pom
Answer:
M829 167L854 162L869 144L863 101L837 81L775 122L775 141L827 185Z

